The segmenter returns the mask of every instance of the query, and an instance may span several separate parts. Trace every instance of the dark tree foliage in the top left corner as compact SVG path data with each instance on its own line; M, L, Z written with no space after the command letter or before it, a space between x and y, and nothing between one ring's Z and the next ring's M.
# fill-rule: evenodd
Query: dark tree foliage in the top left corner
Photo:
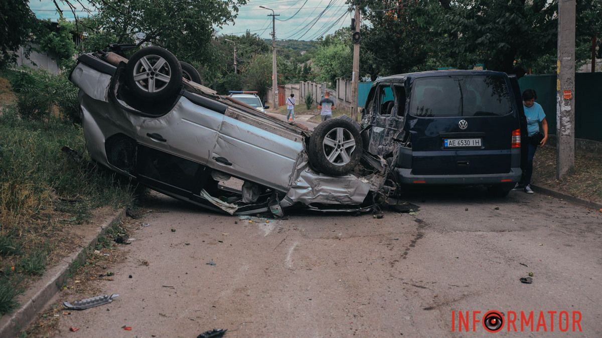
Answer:
M14 62L20 46L30 39L37 25L28 0L0 1L0 69Z

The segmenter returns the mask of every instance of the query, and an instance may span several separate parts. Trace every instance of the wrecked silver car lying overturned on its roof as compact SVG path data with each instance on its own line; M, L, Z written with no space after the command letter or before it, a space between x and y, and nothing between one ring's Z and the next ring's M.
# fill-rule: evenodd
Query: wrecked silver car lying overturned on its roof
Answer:
M166 49L129 60L116 52L81 55L70 80L81 89L88 153L117 173L238 215L367 211L394 190L349 118L309 132L197 84L196 70ZM229 177L244 181L240 189L220 185Z

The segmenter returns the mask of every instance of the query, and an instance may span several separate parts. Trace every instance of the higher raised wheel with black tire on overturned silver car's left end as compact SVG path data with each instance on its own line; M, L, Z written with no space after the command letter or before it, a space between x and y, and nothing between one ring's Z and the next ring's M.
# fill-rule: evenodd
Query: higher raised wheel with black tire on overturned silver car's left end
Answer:
M160 68L155 69L154 66L160 62ZM182 88L182 66L167 49L146 47L128 60L126 84L140 99L169 99Z

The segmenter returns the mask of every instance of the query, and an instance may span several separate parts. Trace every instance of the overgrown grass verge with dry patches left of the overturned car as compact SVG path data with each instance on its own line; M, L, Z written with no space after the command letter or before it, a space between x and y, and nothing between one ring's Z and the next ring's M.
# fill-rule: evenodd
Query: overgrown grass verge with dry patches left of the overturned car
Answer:
M61 148L84 150L81 126L59 118L23 120L0 115L0 315L47 265L68 256L71 229L97 207L123 207L132 189L102 170L68 158Z

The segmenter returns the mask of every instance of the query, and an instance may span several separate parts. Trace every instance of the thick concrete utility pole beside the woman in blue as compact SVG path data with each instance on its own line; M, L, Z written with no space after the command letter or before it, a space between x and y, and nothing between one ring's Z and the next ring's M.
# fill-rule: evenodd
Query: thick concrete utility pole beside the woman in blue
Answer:
M558 60L556 61L556 178L575 167L575 5L558 2Z

